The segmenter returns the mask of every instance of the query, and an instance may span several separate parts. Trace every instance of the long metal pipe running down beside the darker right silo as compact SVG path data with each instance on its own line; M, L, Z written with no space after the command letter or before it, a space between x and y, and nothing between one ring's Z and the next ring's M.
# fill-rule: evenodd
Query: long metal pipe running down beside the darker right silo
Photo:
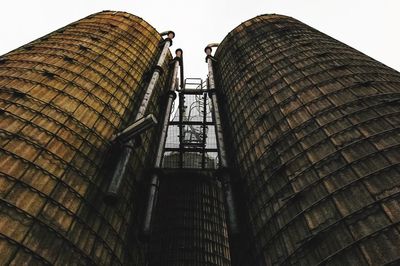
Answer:
M209 97L211 98L211 104L213 108L213 116L215 121L215 135L217 139L217 147L218 147L218 159L220 169L217 173L217 177L222 182L224 194L225 194L225 204L227 207L227 215L228 215L228 224L229 231L232 236L236 236L239 234L238 228L238 220L235 209L235 203L233 198L232 184L231 184L231 176L229 174L228 168L228 160L226 156L225 142L223 137L221 116L219 111L218 99L216 94L215 80L214 80L214 70L213 70L213 61L215 58L211 55L212 47L216 47L218 44L213 43L207 45L204 51L207 54L206 62L208 64L208 90Z

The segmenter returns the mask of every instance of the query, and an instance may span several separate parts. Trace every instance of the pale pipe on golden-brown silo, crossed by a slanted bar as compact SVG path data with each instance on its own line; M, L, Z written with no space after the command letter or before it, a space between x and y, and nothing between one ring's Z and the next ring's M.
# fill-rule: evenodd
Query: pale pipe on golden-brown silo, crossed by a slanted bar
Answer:
M160 57L158 58L157 64L154 68L153 75L151 80L146 88L145 95L140 104L139 110L135 117L135 122L139 119L143 118L146 114L147 108L149 106L150 98L153 94L154 88L157 84L157 81L160 77L160 72L162 70L162 65L164 64L165 58L167 56L169 47L172 45L172 39L175 37L175 33L173 31L169 31L167 33L167 38L164 39L164 46L161 51ZM135 136L137 137L137 136ZM121 155L117 161L117 165L112 174L111 183L107 189L106 200L107 202L115 202L118 200L119 190L122 184L122 181L126 175L128 170L129 162L131 161L133 155L133 148L135 146L134 138L130 139L128 142L123 143Z

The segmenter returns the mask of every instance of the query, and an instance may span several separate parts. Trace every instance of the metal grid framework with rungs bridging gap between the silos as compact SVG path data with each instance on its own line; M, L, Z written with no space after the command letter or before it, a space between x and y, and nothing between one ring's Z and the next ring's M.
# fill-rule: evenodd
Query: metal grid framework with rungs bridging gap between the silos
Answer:
M171 113L163 168L216 169L218 149L207 83L186 78Z

